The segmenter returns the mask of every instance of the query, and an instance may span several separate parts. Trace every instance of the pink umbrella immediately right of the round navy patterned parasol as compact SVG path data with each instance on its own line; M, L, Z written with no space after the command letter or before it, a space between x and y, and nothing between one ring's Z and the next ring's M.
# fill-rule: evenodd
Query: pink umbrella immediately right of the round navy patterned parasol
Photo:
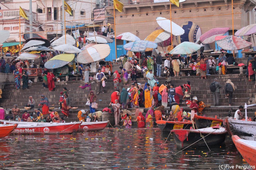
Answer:
M230 27L225 27L225 28L213 28L204 33L199 37L201 43L203 44L209 44L215 42L215 37L224 35Z

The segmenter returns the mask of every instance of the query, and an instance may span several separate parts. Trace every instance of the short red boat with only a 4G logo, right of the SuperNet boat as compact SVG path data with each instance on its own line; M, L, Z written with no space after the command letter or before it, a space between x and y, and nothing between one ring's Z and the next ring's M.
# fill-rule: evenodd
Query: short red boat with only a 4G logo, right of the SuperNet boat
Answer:
M105 129L108 121L103 122L82 122L78 131L101 131Z

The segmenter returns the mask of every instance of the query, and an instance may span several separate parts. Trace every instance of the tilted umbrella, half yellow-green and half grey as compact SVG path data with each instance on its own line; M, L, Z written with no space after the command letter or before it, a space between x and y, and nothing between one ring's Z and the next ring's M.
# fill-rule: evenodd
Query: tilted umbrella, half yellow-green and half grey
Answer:
M64 65L70 63L75 58L75 54L59 54L48 60L44 67L47 69L56 69L63 67Z

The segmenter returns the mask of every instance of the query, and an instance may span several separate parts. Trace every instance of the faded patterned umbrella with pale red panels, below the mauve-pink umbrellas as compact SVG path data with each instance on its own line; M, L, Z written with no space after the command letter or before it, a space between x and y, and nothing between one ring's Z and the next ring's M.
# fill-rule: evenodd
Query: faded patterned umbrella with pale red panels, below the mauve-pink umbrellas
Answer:
M240 50L252 45L252 43L234 35L229 35L221 40L217 40L216 43L225 50Z

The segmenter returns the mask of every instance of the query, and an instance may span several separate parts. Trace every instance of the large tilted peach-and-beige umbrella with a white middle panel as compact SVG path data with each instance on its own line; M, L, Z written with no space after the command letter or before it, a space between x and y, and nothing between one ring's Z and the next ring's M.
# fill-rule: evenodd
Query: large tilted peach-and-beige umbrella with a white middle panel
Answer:
M108 44L96 44L86 48L77 56L77 61L82 64L93 63L105 59L110 54Z

